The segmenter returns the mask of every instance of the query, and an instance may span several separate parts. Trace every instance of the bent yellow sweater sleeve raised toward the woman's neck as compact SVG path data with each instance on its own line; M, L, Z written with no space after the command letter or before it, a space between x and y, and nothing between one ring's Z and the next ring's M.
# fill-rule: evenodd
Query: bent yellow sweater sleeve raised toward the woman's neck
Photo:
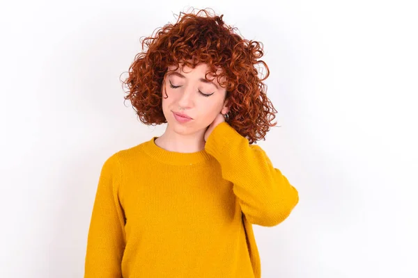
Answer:
M242 213L252 224L276 226L299 202L297 190L273 167L263 149L249 145L227 122L212 130L205 149L221 165L222 177L233 183Z

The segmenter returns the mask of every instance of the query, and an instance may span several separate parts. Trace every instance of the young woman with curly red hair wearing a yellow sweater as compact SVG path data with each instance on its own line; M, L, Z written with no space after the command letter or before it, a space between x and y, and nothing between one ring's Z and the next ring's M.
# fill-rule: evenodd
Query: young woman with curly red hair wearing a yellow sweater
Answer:
M125 99L167 129L104 162L84 277L261 277L251 224L279 224L299 197L253 145L277 113L263 50L222 17L183 13L142 42Z

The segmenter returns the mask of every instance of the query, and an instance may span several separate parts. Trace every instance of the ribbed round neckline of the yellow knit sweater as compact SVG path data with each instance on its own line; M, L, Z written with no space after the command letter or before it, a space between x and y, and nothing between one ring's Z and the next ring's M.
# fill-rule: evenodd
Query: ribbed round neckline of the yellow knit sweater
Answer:
M154 136L146 142L144 145L144 151L155 158L157 161L162 163L167 163L171 165L192 165L196 163L201 163L203 161L208 161L210 159L210 154L206 152L206 149L202 149L199 152L172 152L167 149L163 149L162 147L155 144L155 139L158 136Z

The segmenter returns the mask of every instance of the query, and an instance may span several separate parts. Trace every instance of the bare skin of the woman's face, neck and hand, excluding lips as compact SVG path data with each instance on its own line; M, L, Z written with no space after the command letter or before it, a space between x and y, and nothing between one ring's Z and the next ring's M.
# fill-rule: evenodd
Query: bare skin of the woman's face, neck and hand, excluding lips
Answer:
M174 69L175 66L168 68ZM229 111L226 106L228 101L225 99L226 89L211 74L208 74L207 82L201 81L208 71L206 64L199 64L194 69L180 65L176 72L184 77L172 73L164 76L162 111L167 119L167 129L155 140L156 145L171 152L199 152L204 149L213 129L224 122L223 115ZM164 90L167 90L168 98ZM210 96L205 97L201 93ZM183 109L180 110L179 106ZM173 112L186 114L193 120L180 123Z

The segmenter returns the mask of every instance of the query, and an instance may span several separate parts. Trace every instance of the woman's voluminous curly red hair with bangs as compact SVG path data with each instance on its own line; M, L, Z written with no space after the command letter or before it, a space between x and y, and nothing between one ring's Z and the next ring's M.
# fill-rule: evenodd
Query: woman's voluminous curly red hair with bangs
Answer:
M201 14L204 15L201 15ZM183 17L181 16L183 14ZM249 140L265 140L265 134L277 113L265 95L263 83L270 75L263 60L263 44L245 40L226 26L224 15L210 15L207 9L198 13L180 13L175 24L166 24L142 41L142 52L130 65L127 78L122 81L128 88L129 99L139 120L147 125L166 123L162 111L162 82L169 65L180 63L194 68L206 63L219 85L226 88L229 107L228 123ZM144 44L148 51L144 51ZM256 65L263 64L267 73L258 77ZM220 74L217 69L221 68ZM224 83L219 80L224 77Z

